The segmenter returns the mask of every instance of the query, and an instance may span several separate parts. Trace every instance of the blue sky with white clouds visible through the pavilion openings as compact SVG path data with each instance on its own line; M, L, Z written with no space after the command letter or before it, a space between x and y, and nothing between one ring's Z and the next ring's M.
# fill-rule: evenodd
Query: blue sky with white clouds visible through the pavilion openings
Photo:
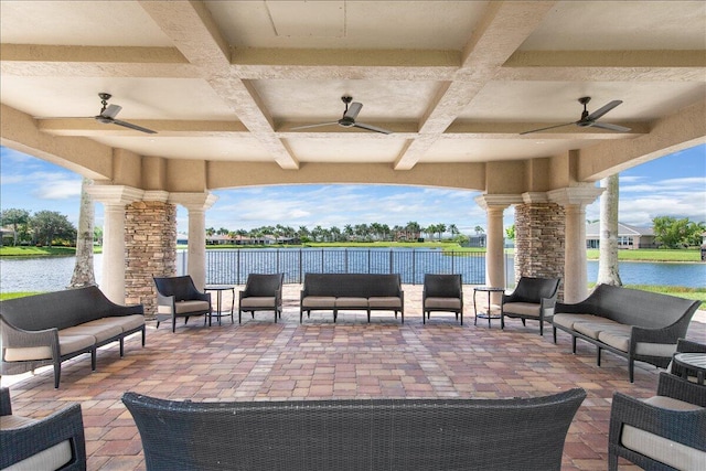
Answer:
M478 192L394 185L287 185L217 190L218 201L206 212L206 227L238 228L282 224L313 228L382 223L391 227L410 221L422 227L456 224L463 234L485 227L485 213L474 202ZM49 210L78 222L81 176L72 171L0 147L0 208L30 213ZM620 174L621 223L649 227L654 216L706 222L706 144L625 170ZM586 217L598 220L598 201ZM178 212L179 231L188 213ZM505 211L505 226L513 211ZM96 204L96 225L103 205Z

